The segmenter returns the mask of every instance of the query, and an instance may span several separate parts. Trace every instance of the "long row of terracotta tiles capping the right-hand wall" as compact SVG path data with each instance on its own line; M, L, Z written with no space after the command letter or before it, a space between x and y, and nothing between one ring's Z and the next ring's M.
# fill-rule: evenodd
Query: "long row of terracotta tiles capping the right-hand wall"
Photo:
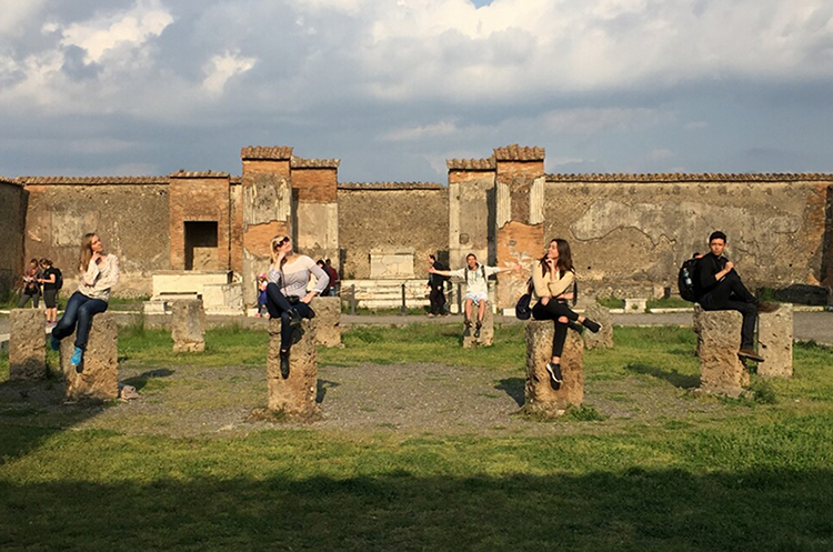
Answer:
M801 182L833 180L825 173L592 173L592 174L546 174L548 182Z

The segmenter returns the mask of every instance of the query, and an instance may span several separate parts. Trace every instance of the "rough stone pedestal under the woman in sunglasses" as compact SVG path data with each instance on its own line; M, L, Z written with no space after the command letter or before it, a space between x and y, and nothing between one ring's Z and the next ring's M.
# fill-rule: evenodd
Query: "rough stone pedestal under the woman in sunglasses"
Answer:
M318 413L317 318L301 321L303 337L290 349L289 375L285 379L281 375L281 321L269 321L267 384L270 411L293 418L311 418Z

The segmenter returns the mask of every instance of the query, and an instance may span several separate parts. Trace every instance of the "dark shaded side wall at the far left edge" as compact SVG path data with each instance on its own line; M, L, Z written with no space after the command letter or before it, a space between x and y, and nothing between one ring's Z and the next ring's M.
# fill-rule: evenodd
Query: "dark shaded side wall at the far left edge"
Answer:
M0 297L6 297L23 271L26 193L23 187L0 178Z

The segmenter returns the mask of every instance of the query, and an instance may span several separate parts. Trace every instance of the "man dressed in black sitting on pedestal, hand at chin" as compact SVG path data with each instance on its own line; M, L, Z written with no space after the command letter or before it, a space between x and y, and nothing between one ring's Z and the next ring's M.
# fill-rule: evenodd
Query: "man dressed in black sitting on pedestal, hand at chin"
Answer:
M712 232L709 237L709 249L711 252L703 255L696 264L694 285L700 298L697 302L706 311L733 310L743 314L741 350L737 354L755 362L763 362L763 357L754 350L757 313L771 312L776 307L755 299L734 270L734 263L723 257L726 234L721 231Z

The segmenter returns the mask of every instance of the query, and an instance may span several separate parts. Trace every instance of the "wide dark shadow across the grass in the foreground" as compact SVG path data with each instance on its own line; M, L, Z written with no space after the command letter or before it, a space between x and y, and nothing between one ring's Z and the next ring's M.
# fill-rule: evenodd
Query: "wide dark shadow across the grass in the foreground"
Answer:
M0 482L6 550L831 550L833 472ZM553 518L558 529L553 529ZM488 523L484 522L488 520Z

